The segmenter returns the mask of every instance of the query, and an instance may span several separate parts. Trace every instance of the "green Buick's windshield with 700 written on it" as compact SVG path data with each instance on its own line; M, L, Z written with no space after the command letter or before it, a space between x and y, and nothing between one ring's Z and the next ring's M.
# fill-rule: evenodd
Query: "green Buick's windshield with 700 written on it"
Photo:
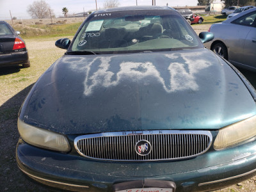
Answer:
M202 47L186 20L173 12L140 10L90 15L69 52L118 53Z

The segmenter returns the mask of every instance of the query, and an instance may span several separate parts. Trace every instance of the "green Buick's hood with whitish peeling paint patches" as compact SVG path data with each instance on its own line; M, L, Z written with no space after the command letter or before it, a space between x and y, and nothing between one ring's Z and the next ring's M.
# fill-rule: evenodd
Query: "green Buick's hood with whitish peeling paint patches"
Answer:
M253 115L243 81L207 49L65 55L20 111L24 122L63 134L216 130Z

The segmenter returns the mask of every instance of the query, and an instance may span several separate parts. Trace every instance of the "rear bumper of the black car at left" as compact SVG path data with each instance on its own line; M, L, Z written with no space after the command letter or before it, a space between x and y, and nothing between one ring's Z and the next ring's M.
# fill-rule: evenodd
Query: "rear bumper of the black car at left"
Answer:
M10 54L0 54L0 67L8 65L20 65L28 63L28 51L12 52Z

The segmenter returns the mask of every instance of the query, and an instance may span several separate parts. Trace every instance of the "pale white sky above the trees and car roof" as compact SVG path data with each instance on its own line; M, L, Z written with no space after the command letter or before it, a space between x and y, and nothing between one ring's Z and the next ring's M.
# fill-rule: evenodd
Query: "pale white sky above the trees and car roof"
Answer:
M36 0L0 0L0 20L11 19L17 17L17 19L30 19L30 15L27 13L29 4L32 4ZM96 0L97 8L103 8L104 0ZM81 13L83 10L88 12L95 10L95 0L45 0L48 3L56 17L63 16L62 8L67 7L68 14ZM118 0L119 6L133 6L136 5L136 0ZM137 0L138 5L152 5L152 0ZM160 6L196 6L197 0L156 0L156 5Z

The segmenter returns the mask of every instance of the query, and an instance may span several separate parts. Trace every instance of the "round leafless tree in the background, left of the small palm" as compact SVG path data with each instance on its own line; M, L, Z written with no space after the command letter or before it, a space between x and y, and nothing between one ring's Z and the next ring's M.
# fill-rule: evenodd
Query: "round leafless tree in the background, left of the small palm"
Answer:
M54 15L53 10L44 0L34 1L29 4L27 12L33 19L44 19L50 17L50 12Z

